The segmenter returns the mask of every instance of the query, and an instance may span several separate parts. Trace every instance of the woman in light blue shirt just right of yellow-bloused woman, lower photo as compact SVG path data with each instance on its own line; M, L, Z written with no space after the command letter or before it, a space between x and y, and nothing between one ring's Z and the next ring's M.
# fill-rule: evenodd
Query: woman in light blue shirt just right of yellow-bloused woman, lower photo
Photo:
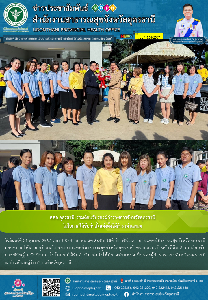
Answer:
M136 170L132 167L129 152L121 152L118 167L123 180L123 205L122 210L133 210L136 202L136 183L138 182Z

